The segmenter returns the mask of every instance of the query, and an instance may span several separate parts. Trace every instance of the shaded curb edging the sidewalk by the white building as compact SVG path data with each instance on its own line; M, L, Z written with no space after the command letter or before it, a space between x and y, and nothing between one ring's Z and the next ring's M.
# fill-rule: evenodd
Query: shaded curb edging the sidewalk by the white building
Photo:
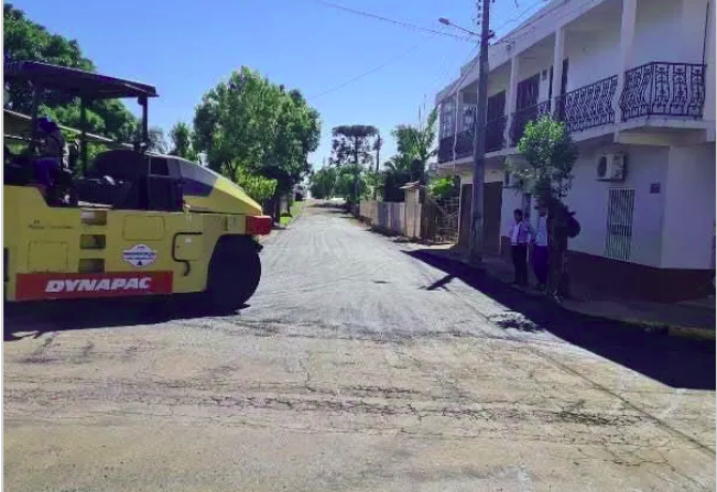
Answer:
M648 321L648 320L635 319L635 318L612 318L612 317L609 317L609 316L595 315L593 313L583 313L583 311L580 311L578 309L573 309L573 308L566 306L563 303L556 303L556 302L552 300L551 298L546 297L545 295L543 295L543 294L541 294L539 292L531 292L531 291L528 291L525 288L521 288L521 287L518 287L515 285L511 285L508 282L506 282L504 280L502 280L500 276L492 275L487 269L475 266L475 265L468 263L467 261L465 261L463 259L449 258L449 256L446 256L446 255L436 254L436 253L431 252L431 251L427 251L426 253L434 256L434 258L448 260L450 262L458 263L458 264L461 264L464 266L468 266L468 267L474 269L474 270L484 271L488 275L490 275L493 278L502 282L503 284L508 285L509 287L513 288L514 291L518 291L518 292L520 292L520 293L522 293L524 295L531 296L531 297L542 297L546 302L550 302L552 304L556 304L557 306L565 309L566 311L575 313L575 314L578 314L580 316L587 316L587 317L590 317L590 318L602 319L602 320L606 320L606 321L622 322L624 325L630 326L631 328L641 329L641 330L643 330L645 332L649 332L649 334L661 334L661 335L667 335L670 337L689 338L689 339L693 339L693 340L711 340L711 341L714 341L716 339L715 338L715 330L711 330L711 329L708 329L708 328L671 325L671 324L666 324L666 322Z

